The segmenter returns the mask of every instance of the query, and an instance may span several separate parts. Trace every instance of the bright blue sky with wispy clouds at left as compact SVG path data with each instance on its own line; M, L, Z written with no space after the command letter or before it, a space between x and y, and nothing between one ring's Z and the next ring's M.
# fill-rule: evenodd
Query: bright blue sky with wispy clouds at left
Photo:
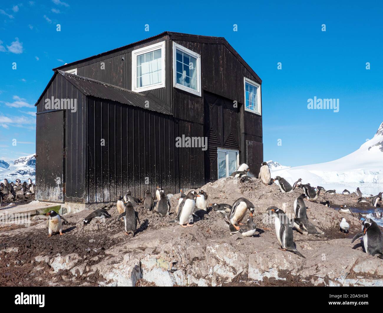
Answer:
M33 105L52 68L165 30L225 37L262 78L265 160L295 166L337 159L383 122L382 13L381 3L368 1L2 2L0 159L34 153ZM308 110L314 96L339 99L339 112Z

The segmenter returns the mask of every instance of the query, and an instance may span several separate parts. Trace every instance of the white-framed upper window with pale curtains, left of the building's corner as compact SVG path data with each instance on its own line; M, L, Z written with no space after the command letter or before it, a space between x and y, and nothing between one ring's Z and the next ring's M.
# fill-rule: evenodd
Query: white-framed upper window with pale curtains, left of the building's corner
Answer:
M165 41L132 52L132 90L165 87Z

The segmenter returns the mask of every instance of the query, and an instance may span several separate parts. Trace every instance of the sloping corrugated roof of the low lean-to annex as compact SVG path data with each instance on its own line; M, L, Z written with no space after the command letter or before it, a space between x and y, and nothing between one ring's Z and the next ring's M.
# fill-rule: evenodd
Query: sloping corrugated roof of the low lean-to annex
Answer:
M79 91L85 96L93 96L100 99L116 101L123 104L133 105L135 107L141 107L145 110L151 110L155 112L160 112L162 114L172 115L169 112L169 110L165 108L162 101L160 101L153 94L141 94L118 86L106 84L94 79L70 74L61 70L55 71L54 75L52 76L43 93L39 97L35 106L39 103L39 101L45 94L46 90L49 88L56 75L62 75L73 86L79 89ZM148 107L146 107L147 103L149 104Z

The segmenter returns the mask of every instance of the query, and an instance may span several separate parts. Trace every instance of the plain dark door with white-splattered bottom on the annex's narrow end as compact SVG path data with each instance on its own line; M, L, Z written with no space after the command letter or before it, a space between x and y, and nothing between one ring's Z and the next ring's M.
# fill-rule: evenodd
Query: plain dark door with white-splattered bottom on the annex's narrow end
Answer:
M36 115L36 199L64 202L64 111Z

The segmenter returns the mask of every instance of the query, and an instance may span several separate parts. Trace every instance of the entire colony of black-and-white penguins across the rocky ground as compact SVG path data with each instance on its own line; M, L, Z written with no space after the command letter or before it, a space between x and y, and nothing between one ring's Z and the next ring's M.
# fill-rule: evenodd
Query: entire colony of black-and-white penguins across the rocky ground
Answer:
M241 178L241 183L252 182L247 174L249 172L248 166L246 164L241 164L240 167L231 174L232 177ZM293 237L293 227L296 231L300 232L303 235L315 235L317 237L326 238L324 232L318 230L311 222L308 220L307 216L307 207L304 203L304 199L316 201L321 192L326 194L336 194L336 190L325 190L323 187L318 186L316 188L311 187L309 183L303 184L302 179L299 178L293 186L290 185L283 177L277 176L271 178L270 169L266 162L262 162L258 178L265 185L269 185L275 182L278 182L278 187L280 188L281 193L290 193L296 188L302 189L302 194L298 196L293 202L293 210L295 217L289 218L285 212L275 206L270 206L266 213L274 221L275 225L275 234L280 245L280 249L283 251L290 251L305 258L305 256L296 249L296 244ZM254 178L253 178L254 179ZM36 186L32 181L24 182L21 184L20 180L16 180L16 183L9 183L5 179L0 183L1 193L0 198L3 195L8 193L14 193L15 191L22 190L25 195L32 194L36 192ZM358 202L367 202L371 203L373 206L378 207L382 201L382 193L380 192L376 196L363 196L359 188L355 191L359 196ZM342 195L349 195L350 191L344 190ZM142 205L148 211L151 211L152 214L162 217L170 215L170 200L165 194L165 191L157 186L155 191L156 204L154 202L153 196L150 190L146 190L143 196ZM176 217L171 223L179 224L181 227L193 227L193 217L197 216L197 211L208 211L209 207L212 208L215 212L219 212L224 217L224 221L228 225L228 230L230 235L241 234L242 237L252 237L257 232L256 224L253 220L253 214L255 211L255 206L246 198L239 198L232 204L226 203L208 203L208 194L199 190L190 190L187 193L184 193L182 189L180 190L180 198L178 198L178 204L175 208ZM316 201L324 206L330 207L329 201ZM139 216L135 207L141 205L141 200L132 196L130 190L126 192L124 196L119 196L116 203L116 209L118 211L118 220L123 220L124 224L124 233L125 235L131 235L134 237L137 232L137 222L138 225L141 224L139 221ZM247 212L249 211L249 216L245 219ZM349 214L354 216L354 213L346 205L341 205L338 209L341 214ZM51 237L52 234L63 235L62 225L67 223L66 219L55 211L49 211L46 214L49 216L46 227L48 229L48 237ZM378 256L383 258L383 235L381 234L380 227L369 217L368 214L359 214L359 217L362 221L362 232L358 233L352 239L352 243L358 238L363 238L364 250L366 253L372 256ZM381 218L383 213L375 213L373 216ZM106 209L98 209L93 211L83 220L83 224L88 224L95 217L105 217L110 218L111 215ZM246 221L246 222L244 222ZM244 222L244 223L243 223ZM339 230L342 233L348 233L350 225L347 223L345 217L342 217L342 220L339 223Z

